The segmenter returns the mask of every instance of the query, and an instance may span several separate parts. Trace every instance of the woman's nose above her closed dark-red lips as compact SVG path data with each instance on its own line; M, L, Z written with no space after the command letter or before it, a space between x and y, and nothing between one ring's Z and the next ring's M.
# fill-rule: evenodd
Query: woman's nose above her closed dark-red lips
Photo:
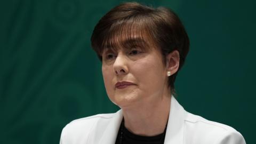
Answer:
M113 68L114 68L114 72L116 75L126 75L127 73L129 73L129 69L127 67L127 58L125 57L125 55L123 54L118 54Z

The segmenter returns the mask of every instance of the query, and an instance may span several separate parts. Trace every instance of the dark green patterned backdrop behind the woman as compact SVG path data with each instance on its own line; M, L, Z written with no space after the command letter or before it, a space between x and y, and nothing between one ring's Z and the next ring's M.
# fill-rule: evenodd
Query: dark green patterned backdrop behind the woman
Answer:
M0 2L0 143L59 143L73 119L118 110L90 36L120 2ZM182 106L256 143L256 2L137 2L172 8L187 29L190 52L175 84Z

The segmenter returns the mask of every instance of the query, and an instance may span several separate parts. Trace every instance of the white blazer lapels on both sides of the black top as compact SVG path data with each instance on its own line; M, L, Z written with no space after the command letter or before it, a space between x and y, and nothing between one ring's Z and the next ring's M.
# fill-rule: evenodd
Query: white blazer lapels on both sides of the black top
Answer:
M165 144L183 143L185 113L186 111L172 95L169 120L164 140ZM106 130L100 139L100 143L115 143L122 119L123 111L121 109L116 112L115 116L106 126Z

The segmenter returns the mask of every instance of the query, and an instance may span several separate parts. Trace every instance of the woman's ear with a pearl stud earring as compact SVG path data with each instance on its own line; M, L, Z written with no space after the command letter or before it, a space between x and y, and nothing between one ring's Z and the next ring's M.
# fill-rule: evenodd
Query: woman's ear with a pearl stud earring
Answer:
M180 54L179 51L175 50L166 56L166 73L170 71L170 74L175 74L179 69Z

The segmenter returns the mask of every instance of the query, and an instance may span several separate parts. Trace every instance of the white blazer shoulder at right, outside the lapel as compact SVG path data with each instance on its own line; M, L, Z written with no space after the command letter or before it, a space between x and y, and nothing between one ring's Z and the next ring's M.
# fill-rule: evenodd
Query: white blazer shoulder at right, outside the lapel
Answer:
M196 143L239 143L245 140L233 127L209 121L201 116L187 113L185 118L185 139Z

